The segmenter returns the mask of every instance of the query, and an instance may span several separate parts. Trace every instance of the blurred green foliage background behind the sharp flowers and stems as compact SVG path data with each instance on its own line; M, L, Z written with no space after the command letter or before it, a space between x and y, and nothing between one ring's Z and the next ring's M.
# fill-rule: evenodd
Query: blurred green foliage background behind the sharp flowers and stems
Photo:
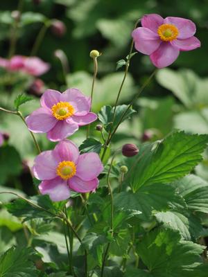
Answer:
M202 47L180 53L173 65L157 72L155 80L134 107L138 113L123 123L114 136L113 148L123 143L139 145L142 141L162 139L174 128L190 133L208 132L208 0L23 0L22 3L16 55L31 55L37 35L50 19L62 21L66 28L63 35L55 35L49 26L37 50L36 55L51 64L49 72L40 76L44 88L64 91L68 87L77 87L89 95L93 74L89 52L97 49L102 53L98 58L94 111L99 111L103 105L114 105L123 78L123 68L116 71L116 62L128 55L131 32L137 19L146 13L158 13L162 17L193 20ZM0 1L1 57L8 56L14 24L12 11L17 10L17 6L16 0ZM67 55L67 76L54 55L57 49ZM132 57L120 103L128 103L153 70L148 56L137 53ZM34 80L31 76L1 69L0 106L14 109L13 100L19 93L31 93ZM39 107L39 97L34 96L33 101L21 106L24 116ZM19 118L1 112L0 120L0 132L7 132L10 136L0 148L0 185L34 194L27 167L32 165L36 154L31 136ZM99 138L100 134L93 132ZM37 137L42 150L54 146L44 135ZM79 145L85 139L85 128L71 139ZM207 164L206 158L196 168L196 174L208 180Z

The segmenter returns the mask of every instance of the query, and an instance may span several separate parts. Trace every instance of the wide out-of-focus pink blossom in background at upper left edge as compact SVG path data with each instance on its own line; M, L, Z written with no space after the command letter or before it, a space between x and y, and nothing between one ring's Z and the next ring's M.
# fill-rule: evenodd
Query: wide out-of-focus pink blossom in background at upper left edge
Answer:
M29 75L39 76L49 71L49 64L39 57L25 57L15 55L10 60L0 57L0 66L8 71L21 71Z

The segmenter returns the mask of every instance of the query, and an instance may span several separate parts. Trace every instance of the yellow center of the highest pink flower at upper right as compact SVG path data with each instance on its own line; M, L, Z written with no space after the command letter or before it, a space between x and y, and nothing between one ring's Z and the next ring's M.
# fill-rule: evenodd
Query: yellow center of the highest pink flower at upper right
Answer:
M173 39L177 38L179 31L177 27L172 24L162 24L157 29L157 33L164 42L171 42Z

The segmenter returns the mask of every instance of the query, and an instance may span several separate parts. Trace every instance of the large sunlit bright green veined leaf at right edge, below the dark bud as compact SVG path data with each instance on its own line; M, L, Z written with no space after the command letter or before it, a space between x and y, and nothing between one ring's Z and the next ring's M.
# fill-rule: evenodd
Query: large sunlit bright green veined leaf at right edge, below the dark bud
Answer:
M207 142L207 135L174 132L152 150L144 150L131 161L137 163L130 175L132 189L137 191L141 186L169 183L184 177L202 161Z

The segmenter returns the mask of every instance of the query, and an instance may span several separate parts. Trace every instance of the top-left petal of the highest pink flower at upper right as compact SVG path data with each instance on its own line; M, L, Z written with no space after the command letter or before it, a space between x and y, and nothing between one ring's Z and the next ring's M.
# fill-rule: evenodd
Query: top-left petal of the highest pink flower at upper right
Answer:
M157 33L157 29L160 25L163 24L164 19L155 13L150 15L144 15L141 19L141 26L152 30L154 33Z

